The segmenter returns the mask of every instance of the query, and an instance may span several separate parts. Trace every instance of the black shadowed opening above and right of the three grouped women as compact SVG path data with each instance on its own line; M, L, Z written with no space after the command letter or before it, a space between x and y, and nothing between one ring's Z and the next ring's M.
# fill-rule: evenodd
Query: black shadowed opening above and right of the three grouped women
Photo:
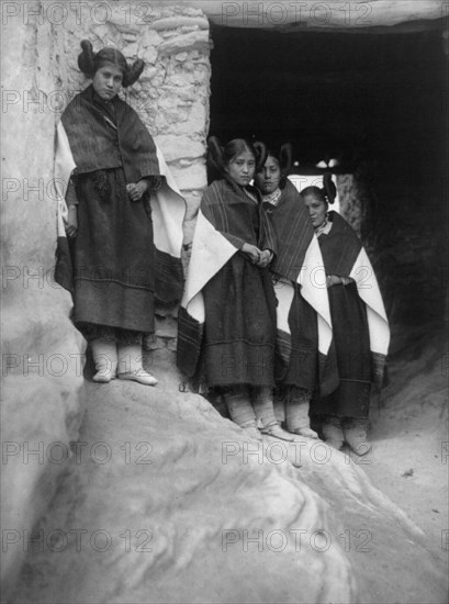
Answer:
M355 174L363 243L395 324L445 317L449 86L441 30L212 29L210 134L270 146L290 141L301 164L328 155Z

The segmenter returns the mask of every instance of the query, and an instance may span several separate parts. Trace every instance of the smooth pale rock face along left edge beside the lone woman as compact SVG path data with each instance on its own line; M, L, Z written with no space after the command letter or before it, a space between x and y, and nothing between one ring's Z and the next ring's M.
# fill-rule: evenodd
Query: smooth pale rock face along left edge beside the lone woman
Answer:
M48 22L37 27L22 20L2 32L2 83L14 100L4 107L2 119L1 206L1 525L10 540L30 534L45 513L63 468L58 456L78 438L83 413L82 338L68 318L69 294L53 281L50 92L63 77L53 34ZM3 549L3 596L23 557L23 547Z

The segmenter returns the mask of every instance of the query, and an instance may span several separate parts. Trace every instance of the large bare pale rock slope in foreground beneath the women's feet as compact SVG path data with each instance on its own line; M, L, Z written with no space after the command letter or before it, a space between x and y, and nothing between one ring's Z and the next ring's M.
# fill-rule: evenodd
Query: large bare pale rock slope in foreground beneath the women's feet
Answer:
M446 601L423 532L348 456L248 440L158 376L86 382L13 604Z

